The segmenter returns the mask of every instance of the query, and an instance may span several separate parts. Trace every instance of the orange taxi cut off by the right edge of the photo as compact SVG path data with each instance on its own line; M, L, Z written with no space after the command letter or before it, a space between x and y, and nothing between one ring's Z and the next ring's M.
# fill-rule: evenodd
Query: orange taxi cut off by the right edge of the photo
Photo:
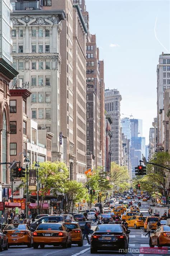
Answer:
M170 226L161 225L155 232L151 231L151 236L149 240L150 247L155 245L158 247L170 246Z

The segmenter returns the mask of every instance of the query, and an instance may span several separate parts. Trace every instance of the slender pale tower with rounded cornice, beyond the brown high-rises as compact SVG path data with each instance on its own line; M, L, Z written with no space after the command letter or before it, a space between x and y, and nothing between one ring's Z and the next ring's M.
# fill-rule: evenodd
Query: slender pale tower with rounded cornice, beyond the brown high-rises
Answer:
M105 111L112 119L112 139L111 139L111 161L121 165L121 119L120 107L122 96L117 89L105 90Z

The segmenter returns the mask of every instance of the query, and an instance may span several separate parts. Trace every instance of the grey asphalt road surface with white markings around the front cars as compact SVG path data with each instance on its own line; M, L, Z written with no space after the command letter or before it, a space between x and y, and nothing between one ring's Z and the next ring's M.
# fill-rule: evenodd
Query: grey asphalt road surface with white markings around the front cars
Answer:
M143 213L144 216L148 215L148 207L151 203L150 202L142 202L142 205L140 207L140 211ZM96 224L92 226L94 229ZM148 250L150 250L150 247L148 245L149 239L148 237L145 237L145 234L143 232L143 229L133 229L129 228L131 230L131 233L129 234L129 250L127 254L124 253L118 253L118 252L105 252L105 251L98 251L98 253L94 255L131 255L131 256L151 256L151 255L170 255L170 247L169 250L166 250L164 252L160 251L158 254L158 251L152 251L151 253L148 253ZM164 247L162 247L164 249ZM157 247L152 250L158 250ZM27 248L26 246L13 246L8 249L8 251L3 251L0 253L1 255L11 255L11 256L30 256L30 255L41 255L41 256L48 256L48 255L62 255L62 256L91 256L90 253L90 246L87 243L87 240L84 240L84 245L82 247L78 247L77 245L72 245L71 248L62 249L61 247L53 247L53 246L46 246L44 249L38 248Z

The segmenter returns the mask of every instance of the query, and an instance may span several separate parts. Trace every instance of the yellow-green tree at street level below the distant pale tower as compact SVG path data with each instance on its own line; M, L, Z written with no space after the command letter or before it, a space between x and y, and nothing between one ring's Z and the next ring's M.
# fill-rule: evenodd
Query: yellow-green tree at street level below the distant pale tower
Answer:
M120 190L124 192L129 189L130 184L128 183L129 173L126 166L117 165L115 162L111 162L110 170L110 183L113 185L113 190Z

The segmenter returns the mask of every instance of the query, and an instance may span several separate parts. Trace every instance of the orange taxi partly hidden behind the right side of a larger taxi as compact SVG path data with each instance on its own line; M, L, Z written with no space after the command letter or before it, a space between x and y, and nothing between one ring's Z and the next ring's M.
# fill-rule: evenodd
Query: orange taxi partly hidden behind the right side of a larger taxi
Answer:
M71 221L71 222L64 222L64 225L66 228L69 230L71 234L71 243L72 244L78 244L78 246L83 246L83 240L82 240L82 231L80 228L80 225L76 221Z

